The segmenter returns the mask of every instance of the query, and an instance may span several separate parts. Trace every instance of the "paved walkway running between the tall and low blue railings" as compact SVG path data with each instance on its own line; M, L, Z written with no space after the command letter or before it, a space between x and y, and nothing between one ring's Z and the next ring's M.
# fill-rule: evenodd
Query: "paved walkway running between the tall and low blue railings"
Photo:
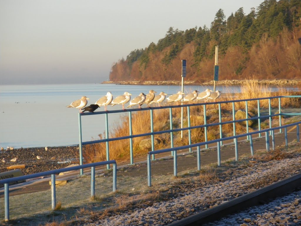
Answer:
M296 140L296 128L288 128L288 142ZM301 130L300 130L301 131ZM227 142L233 142L233 140L228 140ZM284 133L275 133L275 148L280 145L285 144ZM204 147L201 147L204 148ZM258 134L253 135L253 148L254 152L258 150L266 150L265 137L262 135L261 138ZM272 150L272 139L270 138L270 150ZM164 159L163 161L151 161L151 175L155 177L156 175L166 175L173 174L173 156L170 155L171 152L155 155L156 160ZM250 142L244 139L240 139L238 142L238 157L242 155L251 155ZM234 143L223 143L221 146L221 161L225 161L231 158L235 158L235 147ZM117 169L126 168L126 170L117 170L117 183L119 176L145 176L147 177L147 162L145 159L134 159L134 165L129 165L129 162L117 163ZM201 149L201 167L211 163L217 163L217 149L214 144L209 145L209 149ZM185 171L188 169L197 169L197 154L193 150L189 152L188 150L177 151L177 165L178 172ZM105 166L97 168L97 173L102 173L106 169ZM84 171L89 173L90 170ZM56 180L70 180L76 177L80 177L78 171L65 174L62 176L56 176ZM21 184L10 186L10 196L32 193L41 190L50 189L49 180L50 176L43 179L35 179L31 181L26 181ZM0 189L0 197L4 196L4 189Z

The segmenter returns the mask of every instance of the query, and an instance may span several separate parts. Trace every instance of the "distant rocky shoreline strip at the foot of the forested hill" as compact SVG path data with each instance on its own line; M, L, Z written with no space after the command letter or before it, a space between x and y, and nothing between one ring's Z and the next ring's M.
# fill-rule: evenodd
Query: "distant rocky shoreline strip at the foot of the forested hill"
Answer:
M250 79L248 82L260 83L262 85L274 85L274 86L297 86L301 84L301 79ZM242 85L246 80L219 80L216 81L216 85L226 85L226 86L237 86ZM185 85L213 85L213 81L184 81ZM101 84L116 84L116 85L158 85L158 86L178 86L181 85L181 81L103 81Z

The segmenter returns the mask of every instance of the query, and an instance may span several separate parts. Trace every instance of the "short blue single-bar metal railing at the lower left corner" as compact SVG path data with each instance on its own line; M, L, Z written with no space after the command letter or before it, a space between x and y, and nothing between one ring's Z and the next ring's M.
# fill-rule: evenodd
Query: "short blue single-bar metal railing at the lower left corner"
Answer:
M55 169L50 171L45 171L41 173L36 174L30 174L20 177L13 177L8 179L0 180L0 184L4 184L4 208L5 208L5 221L9 220L9 183L17 182L17 181L23 181L27 179L32 179L36 177L43 177L51 175L51 208L52 210L55 209L56 206L56 198L55 198L55 174L59 174L62 172L68 172L73 170L81 170L84 168L91 167L91 197L94 198L95 196L95 166L101 166L101 165L107 165L107 164L113 164L113 192L116 191L117 187L117 164L115 160L110 161L104 161L104 162L94 162L79 166L72 166L68 168L62 168L62 169Z

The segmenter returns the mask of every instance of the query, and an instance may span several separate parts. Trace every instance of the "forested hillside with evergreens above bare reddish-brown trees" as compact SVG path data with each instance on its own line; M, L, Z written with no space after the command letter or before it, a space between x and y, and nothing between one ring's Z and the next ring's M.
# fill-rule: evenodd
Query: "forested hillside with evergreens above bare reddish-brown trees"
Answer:
M157 44L133 50L112 66L110 80L181 80L182 59L187 80L212 80L215 46L220 80L300 78L300 18L301 0L265 0L249 14L239 8L227 19L219 9L210 28L170 27Z

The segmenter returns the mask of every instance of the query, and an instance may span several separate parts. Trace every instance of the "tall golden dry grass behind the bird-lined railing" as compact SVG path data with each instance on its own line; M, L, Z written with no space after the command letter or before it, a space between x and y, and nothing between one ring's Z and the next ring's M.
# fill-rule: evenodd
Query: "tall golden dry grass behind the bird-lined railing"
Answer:
M278 87L277 92L272 92L268 85L262 85L255 80L245 80L243 85L240 86L241 92L236 94L231 94L231 86L223 87L226 92L222 93L219 101L233 100L233 99L253 99L260 97L271 97L271 96L290 96L292 93L288 92L284 87ZM229 90L227 92L227 90ZM271 100L271 107L278 108L278 98ZM282 98L281 107L298 107L300 106L299 98ZM221 104L222 108L222 121L231 121L232 119L232 104ZM235 102L235 111L238 109L245 109L245 102ZM268 99L260 100L260 108L268 108ZM257 100L248 101L249 113L253 112L254 115L257 114ZM187 119L187 108L183 108L183 113L186 115L184 117L184 126L188 126ZM206 105L206 116L207 124L215 123L219 121L218 105L211 104ZM181 128L181 108L172 109L172 120L173 128ZM169 109L160 109L153 111L154 119L154 131L162 131L170 129L169 121ZM129 135L129 118L120 118L121 123L113 126L110 131L109 137L123 137ZM190 107L190 123L191 126L203 125L203 106L191 106ZM233 134L233 125L225 124L222 127L224 135ZM252 131L252 128L250 128ZM245 131L245 126L242 124L236 125L237 134ZM150 111L137 111L132 113L132 134L141 134L151 132L150 126ZM188 144L188 131L183 131L184 138L180 136L181 132L173 133L173 144L175 146L182 146ZM99 135L100 139L104 139L104 135ZM150 137L136 137L133 138L133 157L145 156L150 149L140 146L141 140L149 139ZM207 129L208 140L213 140L219 138L219 126L208 127ZM154 139L157 141L155 149L159 148L169 148L171 147L171 139L169 133L164 133L160 135L155 135ZM204 141L204 128L192 129L191 130L191 142L198 143ZM116 140L109 142L110 159L118 161L129 161L130 156L130 141L126 140ZM83 148L83 156L86 162L99 162L106 160L106 144L97 143L92 145L86 145Z

